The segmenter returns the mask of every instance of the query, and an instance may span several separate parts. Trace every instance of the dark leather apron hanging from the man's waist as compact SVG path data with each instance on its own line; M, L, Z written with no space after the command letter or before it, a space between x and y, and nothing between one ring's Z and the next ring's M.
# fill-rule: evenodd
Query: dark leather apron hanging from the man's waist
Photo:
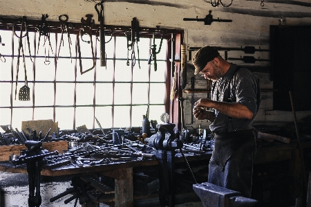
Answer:
M255 155L253 129L215 134L208 182L250 197Z

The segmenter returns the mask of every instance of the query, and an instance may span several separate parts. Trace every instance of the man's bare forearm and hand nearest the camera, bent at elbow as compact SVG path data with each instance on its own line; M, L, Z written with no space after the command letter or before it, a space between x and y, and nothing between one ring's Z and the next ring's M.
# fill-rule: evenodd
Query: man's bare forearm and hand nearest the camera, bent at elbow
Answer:
M249 111L247 107L242 105L239 102L229 103L229 102L218 102L210 100L208 98L200 98L197 102L194 103L194 106L197 108L207 107L214 108L221 113L230 116L232 118L247 118L252 119L254 114L252 111Z

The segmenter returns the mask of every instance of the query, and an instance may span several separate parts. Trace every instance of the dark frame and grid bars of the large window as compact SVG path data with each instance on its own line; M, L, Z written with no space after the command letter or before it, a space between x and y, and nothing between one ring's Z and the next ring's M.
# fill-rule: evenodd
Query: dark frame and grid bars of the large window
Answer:
M12 30L12 26L14 24L15 21L17 21L18 19L2 19L1 21L1 24L0 24L0 30ZM28 30L30 32L36 32L36 26L41 24L41 21L37 21L37 20L27 20L28 21ZM60 24L59 22L53 22L53 21L48 21L48 24L50 25L49 29L50 29L50 33L60 33L61 32L61 29L60 29ZM70 29L70 34L78 34L79 33L79 26L80 24L77 24L77 23L70 23L73 28ZM95 28L98 28L99 27L99 24L95 24ZM113 31L113 38L117 38L117 37L125 37L124 35L124 31L126 30L129 30L130 27L129 26L107 26L105 25L105 30L107 31L107 33L109 33L109 30ZM109 28L109 29L108 29ZM176 35L181 35L182 34L182 30L176 30L176 29L165 29L165 28L161 28L162 31L164 31L164 35L163 35L163 39L166 39L167 40L167 60L163 60L165 62L167 62L167 71L166 71L166 76L165 76L165 80L164 80L164 83L166 85L166 95L165 95L165 100L164 100L164 107L165 107L165 111L167 113L169 113L171 111L171 106L172 106L172 103L169 101L169 91L171 89L171 74L172 73L172 66L173 66L173 59L175 59L175 54L174 54L174 51L175 51L175 44L176 42L175 41L171 41L172 39L175 39ZM152 35L153 35L153 32L155 33L155 37L156 38L160 38L160 33L159 33L159 28L140 28L140 37L147 37L147 38L151 38L150 39L150 44L151 44L151 40L152 40ZM96 35L97 33L97 29L93 30L93 35ZM38 33L36 33L35 35L39 35ZM106 36L106 39L109 38ZM13 34L12 34L12 39L13 39ZM57 37L56 37L56 42L57 42ZM35 46L37 45L37 42L36 42L36 38L35 38L35 42L34 42ZM95 44L95 48L94 48L94 51L97 51L97 46L99 44L96 43ZM55 46L55 48L57 48L57 46ZM171 49L173 48L173 50ZM77 54L77 48L75 46L75 51L76 51L76 54ZM172 52L173 51L173 52ZM56 51L55 51L56 53ZM13 65L13 60L15 57L17 57L17 54L14 54L14 55L3 55L3 57L13 57L12 58L12 64L11 64L11 70L15 70L15 66ZM97 56L97 55L95 55ZM38 55L32 55L32 57L42 57L42 56L38 56ZM173 57L173 58L171 58ZM56 55L55 57L53 57L55 61L56 60ZM59 58L62 58L62 57L59 57ZM84 58L84 57L82 57ZM99 62L99 57L96 57L96 62ZM121 60L121 59L118 59L116 58L115 56L113 58L111 58L111 60L113 60L113 64L115 66L115 61L116 60ZM147 60L140 60L140 61L147 61ZM78 71L78 60L77 60L77 55L75 57L75 73L77 73ZM137 64L137 63L136 63ZM21 66L20 66L21 67ZM33 66L35 67L35 66ZM149 65L149 73L150 73L150 70L153 68L152 65ZM133 74L133 66L131 67L132 69L132 74ZM34 69L35 70L35 69ZM113 74L114 75L114 74ZM78 81L76 80L76 77L77 75L75 75L75 80L74 81L63 81L64 83L74 83L75 85L76 84L79 84L79 83L102 83L101 81L97 81L97 80L93 80L93 81ZM149 74L149 77L150 77L150 74ZM14 90L15 89L15 81L12 79L10 81L1 81L1 82L10 82L11 84L11 88ZM19 81L19 82L23 82L23 81ZM55 95L55 89L56 89L56 85L57 83L59 82L62 82L62 81L57 81L57 80L50 80L50 81L38 81L38 80L33 80L33 81L28 81L30 83L53 83L54 84L54 95ZM106 83L106 82L104 82ZM115 84L114 82L114 78L113 78L113 81L112 81L113 84ZM124 83L124 82L122 82ZM131 82L129 82L131 84L131 94L132 94L132 89L133 89L133 79L131 80ZM151 84L153 82L150 82L150 80L148 82L142 82L142 83L148 83L148 84ZM14 86L13 86L14 85ZM75 87L76 88L76 87ZM75 89L76 90L76 89ZM73 117L73 129L75 129L75 127L77 127L75 125L75 111L76 111L76 108L77 107L93 107L93 114L95 115L95 107L101 107L101 106L109 106L109 105L96 105L95 104L95 100L93 100L93 105L75 105L76 104L76 97L74 97L75 99L75 102L73 105L66 105L66 106L62 106L62 105L55 105L55 98L54 98L54 104L52 106L36 106L35 105L35 94L32 93L32 97L30 98L30 101L32 101L32 105L31 106L28 106L28 107L18 107L18 106L13 106L12 105L12 99L14 98L13 97L14 95L11 94L11 100L10 100L10 106L9 107L1 107L1 108L10 108L10 112L11 112L11 117L10 117L10 124L12 125L12 116L13 116L13 109L15 108L32 108L32 120L34 120L34 116L35 116L35 108L38 108L38 107L53 107L53 121L55 121L55 109L57 107L73 107L74 108L74 117ZM75 91L75 96L76 96L76 91ZM95 98L95 92L94 92L94 98ZM153 105L151 103L151 105ZM117 106L117 105L114 105L112 104L111 107L114 107L114 106ZM130 109L130 114L132 113L132 107L135 106L135 104L133 105L133 103L131 102L131 104L129 105L131 107ZM147 106L147 105L146 105ZM130 115L130 119L131 119L131 115ZM130 120L131 122L131 120ZM113 123L113 122L112 122ZM95 116L93 118L93 128L95 128ZM124 127L127 127L127 126L124 126ZM133 127L137 127L137 126L133 126Z

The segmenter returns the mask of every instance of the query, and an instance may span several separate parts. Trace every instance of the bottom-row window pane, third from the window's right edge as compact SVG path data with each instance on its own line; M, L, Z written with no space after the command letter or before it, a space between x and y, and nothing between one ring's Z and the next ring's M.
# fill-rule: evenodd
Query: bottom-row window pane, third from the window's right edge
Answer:
M129 109L130 109L129 106L115 107L113 127L131 126Z

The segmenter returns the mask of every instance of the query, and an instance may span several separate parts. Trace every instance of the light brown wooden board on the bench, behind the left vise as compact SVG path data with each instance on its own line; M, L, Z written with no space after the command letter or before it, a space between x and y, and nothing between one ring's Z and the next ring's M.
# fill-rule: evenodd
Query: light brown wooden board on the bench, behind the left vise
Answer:
M42 147L49 152L57 150L59 153L63 153L62 150L68 150L68 141L42 143ZM25 145L0 146L0 161L10 161L10 155L19 155L21 150L27 150L27 147Z

